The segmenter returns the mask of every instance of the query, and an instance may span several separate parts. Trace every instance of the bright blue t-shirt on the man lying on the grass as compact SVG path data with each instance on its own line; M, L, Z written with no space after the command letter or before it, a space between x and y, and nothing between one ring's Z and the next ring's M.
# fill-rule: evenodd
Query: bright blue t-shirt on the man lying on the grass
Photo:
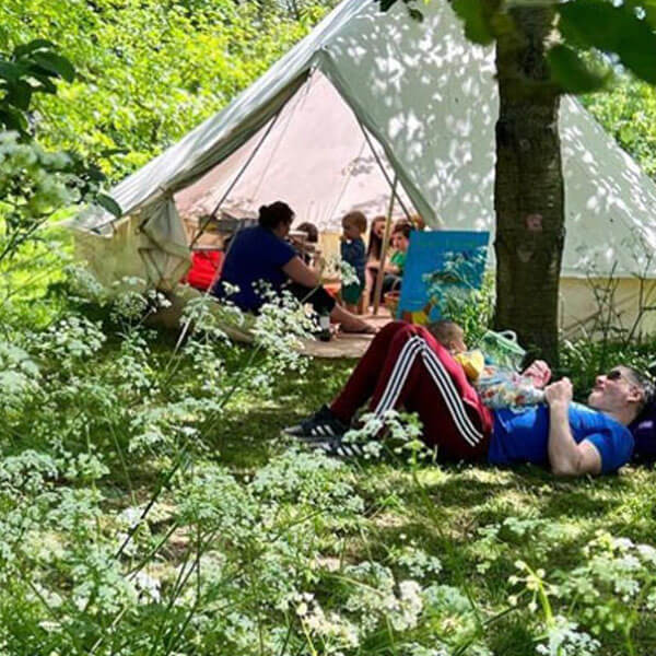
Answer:
M493 465L535 462L549 465L549 407L527 408L523 412L494 410L494 430L488 459ZM625 465L633 452L633 436L614 419L582 406L570 403L570 429L574 441L590 442L601 456L602 473Z

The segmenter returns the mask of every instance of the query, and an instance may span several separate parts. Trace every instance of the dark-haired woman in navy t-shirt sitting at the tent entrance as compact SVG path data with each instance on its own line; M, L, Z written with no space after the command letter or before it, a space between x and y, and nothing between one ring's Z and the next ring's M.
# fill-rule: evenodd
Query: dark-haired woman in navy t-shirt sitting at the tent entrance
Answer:
M258 225L238 232L225 256L221 280L212 293L230 298L237 307L257 313L266 303L258 290L262 283L273 292L288 290L302 303L309 303L319 315L341 324L345 332L376 332L376 329L338 305L321 286L319 274L311 269L285 242L294 212L277 201L259 209ZM225 284L238 288L229 295Z

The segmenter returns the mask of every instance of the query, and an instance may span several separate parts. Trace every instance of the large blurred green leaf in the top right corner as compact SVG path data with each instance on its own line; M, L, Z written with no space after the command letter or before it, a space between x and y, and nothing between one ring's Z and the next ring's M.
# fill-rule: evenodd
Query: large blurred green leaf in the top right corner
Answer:
M614 52L635 75L656 84L656 33L633 8L605 0L572 0L558 5L560 30L583 48Z

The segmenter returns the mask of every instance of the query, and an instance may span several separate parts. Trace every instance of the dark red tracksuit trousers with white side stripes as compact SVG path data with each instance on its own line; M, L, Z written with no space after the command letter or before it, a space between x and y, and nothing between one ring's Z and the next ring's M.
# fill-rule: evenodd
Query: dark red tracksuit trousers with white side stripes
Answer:
M422 326L385 326L330 409L348 424L370 398L371 411L380 417L398 408L417 412L424 442L437 446L441 457L478 460L488 454L490 410L462 366Z

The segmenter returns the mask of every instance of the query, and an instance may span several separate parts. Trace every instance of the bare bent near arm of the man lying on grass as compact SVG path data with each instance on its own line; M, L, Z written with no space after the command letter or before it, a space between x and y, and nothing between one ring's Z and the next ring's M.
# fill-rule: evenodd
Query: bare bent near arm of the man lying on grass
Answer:
M572 383L563 378L544 389L549 403L549 464L555 476L601 473L601 456L597 448L584 440L576 444L570 429L569 408L572 401Z

